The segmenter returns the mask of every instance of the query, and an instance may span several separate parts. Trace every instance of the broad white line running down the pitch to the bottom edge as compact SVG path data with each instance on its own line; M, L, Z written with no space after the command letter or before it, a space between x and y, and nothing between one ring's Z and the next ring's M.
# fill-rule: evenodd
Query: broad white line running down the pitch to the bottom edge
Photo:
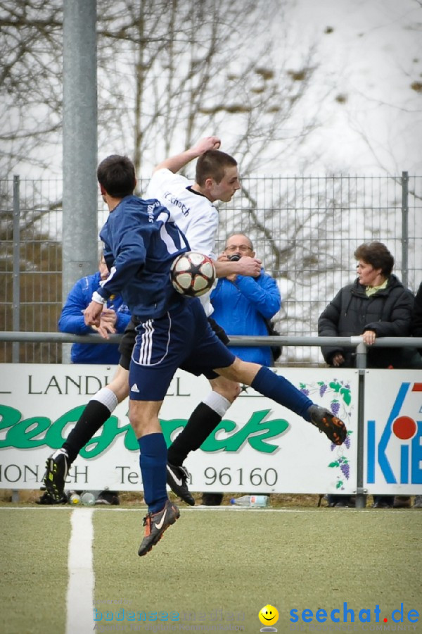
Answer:
M94 627L93 512L94 509L75 509L70 519L72 531L68 553L67 634L85 634L92 632Z

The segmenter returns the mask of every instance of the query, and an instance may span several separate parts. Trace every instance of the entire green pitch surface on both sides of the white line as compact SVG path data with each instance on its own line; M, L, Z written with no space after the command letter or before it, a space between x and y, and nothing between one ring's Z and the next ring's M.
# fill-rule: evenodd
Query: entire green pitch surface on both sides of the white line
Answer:
M78 510L0 509L1 633L65 633L70 514ZM344 602L355 623L359 610L373 615L376 604L381 622L385 616L391 623L401 603L422 616L422 512L416 509L182 507L161 542L138 557L144 514L94 511L94 600L104 615L122 607L173 612L189 626L238 625L251 634L260 631L258 612L266 604L279 610L279 633L289 630L291 609L329 614L338 608L343 622ZM136 625L147 630L147 623ZM111 624L103 631L112 631ZM87 623L87 631L94 625Z

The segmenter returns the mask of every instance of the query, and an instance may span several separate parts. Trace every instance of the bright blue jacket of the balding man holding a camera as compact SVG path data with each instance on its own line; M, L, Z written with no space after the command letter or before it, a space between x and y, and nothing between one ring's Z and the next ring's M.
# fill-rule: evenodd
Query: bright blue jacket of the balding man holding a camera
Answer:
M212 318L227 335L268 335L265 319L271 319L281 306L276 280L262 271L259 278L238 275L235 282L220 278L211 294ZM235 347L243 361L270 366L271 352L264 347Z

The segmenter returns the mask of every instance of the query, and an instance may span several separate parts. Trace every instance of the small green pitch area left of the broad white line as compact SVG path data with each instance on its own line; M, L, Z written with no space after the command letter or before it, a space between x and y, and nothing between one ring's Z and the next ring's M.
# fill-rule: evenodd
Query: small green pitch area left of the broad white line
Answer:
M71 512L0 509L2 634L65 631Z

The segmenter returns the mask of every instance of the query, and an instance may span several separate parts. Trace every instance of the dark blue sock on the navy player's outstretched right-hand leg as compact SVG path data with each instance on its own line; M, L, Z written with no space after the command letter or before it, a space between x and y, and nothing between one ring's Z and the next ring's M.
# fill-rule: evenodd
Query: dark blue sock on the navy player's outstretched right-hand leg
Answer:
M308 409L313 405L312 401L300 392L297 387L292 385L290 381L283 376L274 374L269 368L262 367L258 370L251 387L260 392L262 396L273 399L276 403L302 416L308 423L311 420Z

